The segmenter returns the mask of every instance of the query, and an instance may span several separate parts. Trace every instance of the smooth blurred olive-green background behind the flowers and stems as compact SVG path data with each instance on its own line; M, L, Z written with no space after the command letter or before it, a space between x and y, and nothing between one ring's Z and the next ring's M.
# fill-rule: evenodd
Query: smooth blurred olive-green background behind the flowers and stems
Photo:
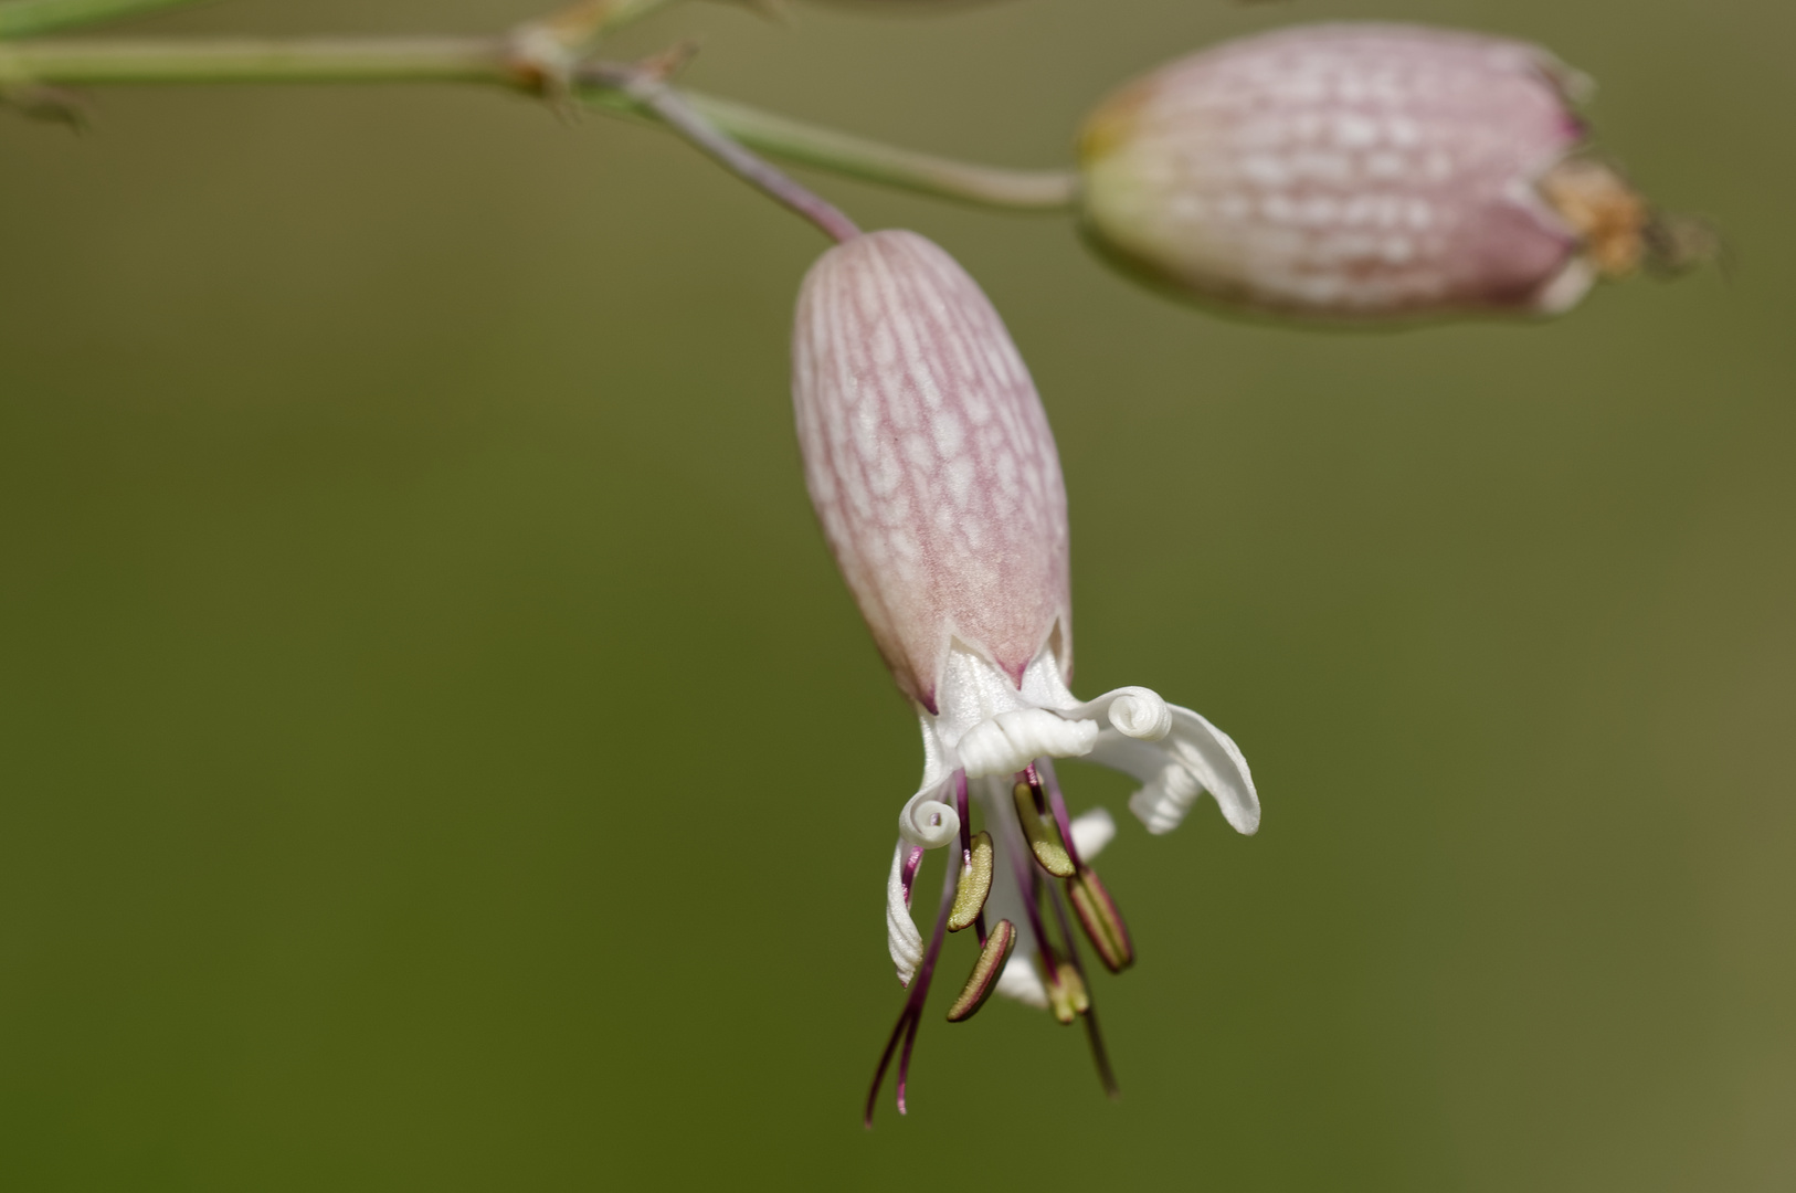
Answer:
M1200 708L1266 809L1105 859L1121 1103L1043 1015L932 1008L871 1134L921 758L797 471L821 237L478 90L0 119L0 1182L1796 1188L1789 5L695 5L618 52L697 36L695 86L1054 165L1122 77L1336 16L1554 47L1737 270L1304 334L1060 219L815 178L954 252L1031 361L1079 690Z

